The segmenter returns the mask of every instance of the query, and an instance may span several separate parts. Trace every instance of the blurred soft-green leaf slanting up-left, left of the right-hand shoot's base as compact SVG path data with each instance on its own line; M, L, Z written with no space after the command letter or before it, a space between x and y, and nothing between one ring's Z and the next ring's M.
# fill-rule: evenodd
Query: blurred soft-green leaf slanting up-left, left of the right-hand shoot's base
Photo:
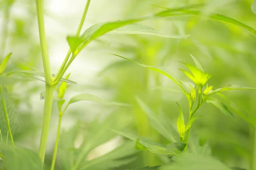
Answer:
M140 98L136 98L140 108L145 112L150 122L150 125L154 127L160 134L171 142L177 142L177 132L170 125L169 119L164 114L157 114L148 107Z

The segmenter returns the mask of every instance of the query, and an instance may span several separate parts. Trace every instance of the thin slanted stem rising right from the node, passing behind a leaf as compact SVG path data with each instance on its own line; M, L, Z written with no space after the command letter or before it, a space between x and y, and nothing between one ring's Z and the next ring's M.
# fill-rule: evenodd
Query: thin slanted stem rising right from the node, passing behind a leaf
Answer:
M81 29L82 29L82 27L83 27L83 25L84 25L84 20L85 20L85 17L86 17L86 14L87 14L89 5L90 5L90 0L87 0L86 6L85 6L85 8L84 8L84 13L83 13L83 15L82 15L82 18L81 18L79 27L78 27L78 29L77 29L77 31L76 31L76 37L79 36L79 34L80 34L80 32L81 32ZM61 65L61 68L58 70L58 73L57 73L56 76L54 77L54 81L58 80L59 77L62 77L62 76L63 76L63 74L61 75L61 73L62 73L62 70L64 69L65 65L67 64L67 61L68 61L68 59L69 59L69 57L70 57L70 54L71 54L71 49L69 49L69 51L67 52L67 55L66 55L66 57L65 57L65 59L64 59L64 62L63 62L62 65Z

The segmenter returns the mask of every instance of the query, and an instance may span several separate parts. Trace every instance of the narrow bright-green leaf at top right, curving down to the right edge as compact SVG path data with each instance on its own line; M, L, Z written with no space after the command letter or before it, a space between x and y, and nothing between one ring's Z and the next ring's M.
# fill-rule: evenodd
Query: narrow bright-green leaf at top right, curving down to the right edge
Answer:
M163 8L163 7L160 7ZM197 16L201 16L201 17L206 17L212 20L217 20L219 22L223 22L223 23L228 23L228 24L232 24L235 26L239 26L241 28L246 29L247 31L250 31L250 33L252 33L254 36L256 36L256 30L254 30L252 27L247 26L237 20L234 20L230 17L226 17L224 15L221 14L205 14L201 11L192 11L192 10L188 10L188 9L176 9L175 11L173 9L170 8L165 8L168 9L166 11L160 12L158 14L156 14L156 16L158 17L169 17L169 16L175 16L175 15L197 15ZM181 12L182 14L177 14L176 12Z

